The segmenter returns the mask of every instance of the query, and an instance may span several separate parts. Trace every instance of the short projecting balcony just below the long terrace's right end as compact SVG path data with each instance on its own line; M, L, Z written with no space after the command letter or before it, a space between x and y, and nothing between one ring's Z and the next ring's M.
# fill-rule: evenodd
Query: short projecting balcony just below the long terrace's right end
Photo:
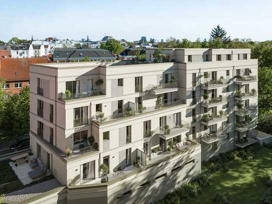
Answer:
M171 129L159 128L159 137L168 140L190 131L190 123L182 121L182 124Z

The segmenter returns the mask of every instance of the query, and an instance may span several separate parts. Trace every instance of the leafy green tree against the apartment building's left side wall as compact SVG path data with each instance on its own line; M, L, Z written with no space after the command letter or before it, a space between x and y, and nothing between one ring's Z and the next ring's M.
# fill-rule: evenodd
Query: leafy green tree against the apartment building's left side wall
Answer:
M4 107L2 127L8 139L20 142L29 132L30 89L25 86L19 94L10 96Z

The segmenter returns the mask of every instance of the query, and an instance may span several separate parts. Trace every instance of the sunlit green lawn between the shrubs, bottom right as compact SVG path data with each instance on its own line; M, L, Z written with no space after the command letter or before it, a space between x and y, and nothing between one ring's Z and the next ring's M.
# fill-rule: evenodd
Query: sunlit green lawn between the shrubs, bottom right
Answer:
M264 147L250 161L237 158L225 165L228 172L213 173L211 184L199 196L183 203L213 203L211 199L216 192L227 196L232 204L261 203L260 198L268 188L261 177L264 172L272 172L272 149Z

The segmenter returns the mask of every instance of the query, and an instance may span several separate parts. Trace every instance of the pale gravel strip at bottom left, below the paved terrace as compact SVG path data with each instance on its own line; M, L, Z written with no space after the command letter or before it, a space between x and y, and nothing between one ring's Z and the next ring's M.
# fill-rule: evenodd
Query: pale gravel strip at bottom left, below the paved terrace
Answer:
M32 185L30 187L23 188L21 190L10 192L6 194L4 200L24 201L59 186L61 186L61 184L56 179L51 179L45 182Z

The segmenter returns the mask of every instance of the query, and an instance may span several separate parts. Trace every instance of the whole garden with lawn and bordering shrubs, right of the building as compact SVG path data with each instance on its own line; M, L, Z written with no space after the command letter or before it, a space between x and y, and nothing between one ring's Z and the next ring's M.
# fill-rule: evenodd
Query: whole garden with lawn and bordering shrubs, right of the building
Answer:
M203 162L199 176L158 203L272 203L272 147L221 153Z

